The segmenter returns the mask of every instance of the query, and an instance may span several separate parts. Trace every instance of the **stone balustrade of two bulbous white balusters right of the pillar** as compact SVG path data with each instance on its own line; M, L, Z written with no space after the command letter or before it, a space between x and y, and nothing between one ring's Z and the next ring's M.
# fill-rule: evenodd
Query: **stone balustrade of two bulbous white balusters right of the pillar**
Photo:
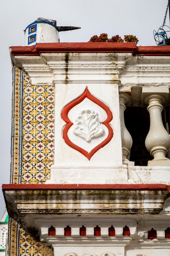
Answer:
M146 136L146 149L153 157L148 161L148 166L170 166L170 159L166 157L170 148L170 135L163 126L161 112L163 104L166 103L169 95L168 88L143 88L142 89L142 106L146 104L147 110L150 114L150 129ZM130 155L130 148L132 147L132 137L128 132L125 121L124 111L126 104L130 101L130 96L125 92L119 93L120 99L120 116L121 116L121 140L123 152L123 164L128 166L134 165L127 157ZM134 117L135 118L135 117Z

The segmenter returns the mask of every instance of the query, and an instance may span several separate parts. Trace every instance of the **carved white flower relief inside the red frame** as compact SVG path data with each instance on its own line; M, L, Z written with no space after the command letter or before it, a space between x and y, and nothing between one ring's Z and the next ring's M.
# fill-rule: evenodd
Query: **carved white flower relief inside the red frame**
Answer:
M83 110L77 119L75 119L73 132L87 142L91 142L92 139L102 135L104 129L99 121L97 112L93 110Z

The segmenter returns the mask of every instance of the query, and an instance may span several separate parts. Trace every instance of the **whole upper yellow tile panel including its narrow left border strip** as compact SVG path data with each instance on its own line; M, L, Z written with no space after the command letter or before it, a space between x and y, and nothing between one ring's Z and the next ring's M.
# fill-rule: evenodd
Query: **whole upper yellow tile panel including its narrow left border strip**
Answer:
M13 67L11 183L44 183L54 159L53 85L32 85Z

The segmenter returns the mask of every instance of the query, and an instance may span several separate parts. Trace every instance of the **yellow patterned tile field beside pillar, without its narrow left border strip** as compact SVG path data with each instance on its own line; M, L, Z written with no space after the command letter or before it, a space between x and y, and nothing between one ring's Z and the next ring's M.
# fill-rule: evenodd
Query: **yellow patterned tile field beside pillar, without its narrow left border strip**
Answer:
M44 183L54 159L54 86L23 86L22 182Z

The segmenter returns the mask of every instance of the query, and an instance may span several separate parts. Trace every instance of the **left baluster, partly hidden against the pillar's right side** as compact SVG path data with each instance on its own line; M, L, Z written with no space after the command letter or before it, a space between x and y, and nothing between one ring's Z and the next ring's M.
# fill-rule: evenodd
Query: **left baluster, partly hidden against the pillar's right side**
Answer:
M120 115L121 115L121 143L122 143L122 153L123 153L123 164L127 164L128 166L133 166L134 162L130 162L127 157L130 154L130 148L132 147L132 137L128 132L125 121L124 121L124 111L126 110L125 104L127 104L130 100L130 96L125 92L120 92L119 94L120 100Z

